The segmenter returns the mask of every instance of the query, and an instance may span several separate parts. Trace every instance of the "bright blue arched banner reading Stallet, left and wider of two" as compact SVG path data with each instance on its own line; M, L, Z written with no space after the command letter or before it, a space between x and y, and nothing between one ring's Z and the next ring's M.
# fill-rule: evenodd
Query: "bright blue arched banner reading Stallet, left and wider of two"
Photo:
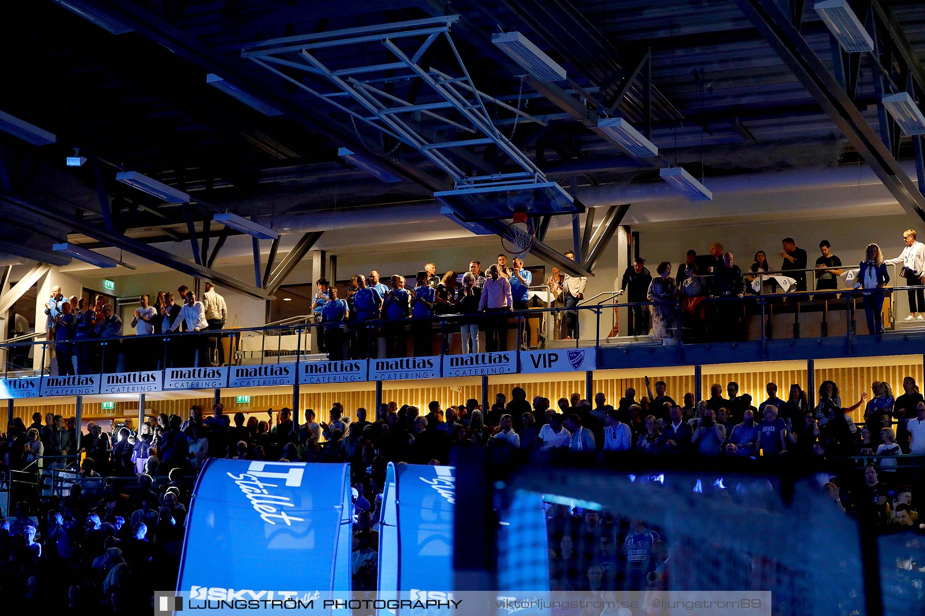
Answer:
M314 598L318 608L317 598L350 592L350 490L348 465L210 458L180 562L188 608L240 598Z

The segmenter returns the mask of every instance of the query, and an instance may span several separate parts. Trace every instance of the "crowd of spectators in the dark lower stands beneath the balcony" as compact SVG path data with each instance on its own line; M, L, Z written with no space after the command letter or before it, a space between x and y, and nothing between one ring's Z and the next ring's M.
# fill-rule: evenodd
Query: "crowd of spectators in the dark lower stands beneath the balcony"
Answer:
M208 457L350 463L357 514L351 566L358 590L375 588L375 523L388 463L446 465L456 448L561 448L692 458L865 454L881 463L865 470L864 493L833 485L833 501L847 513L870 513L865 508L872 507L882 525L918 524L911 489L902 484L899 469L888 464L901 453L925 450L925 400L914 380L904 382L906 393L896 399L888 384L877 381L870 400L864 394L850 407L842 406L832 381L820 385L820 402L814 407L798 385L783 399L776 384L768 383L768 397L758 406L734 382L726 386L726 397L715 384L707 400L695 403L685 393L679 396L682 404L673 400L663 381L647 379L646 387L648 395L639 399L627 389L617 405L608 404L603 393L593 405L574 393L552 408L547 398L528 401L524 389L516 387L510 400L498 393L487 410L474 399L446 408L433 401L425 412L392 402L376 409L375 417L355 409L352 420L335 404L327 422L312 409L300 421L288 408L268 409L262 419L241 413L228 417L220 404L205 417L203 407L194 405L186 421L162 414L137 431L126 422L109 435L91 422L80 437L80 470L75 462L55 457L77 453L74 427L64 417L49 415L43 424L36 414L28 428L16 420L2 440L7 469L39 472L32 463L44 459L46 470L60 465L73 472L65 481L67 496L45 489L39 499L34 491L19 491L16 519L4 526L6 533L0 531L0 562L6 567L0 584L15 601L42 596L55 597L61 605L98 606L102 601L106 610L137 608L137 595L125 592L129 584L156 586L158 580L171 578L150 572L176 572L191 475ZM849 413L860 405L868 424L857 429ZM889 425L868 429L879 421ZM902 435L898 440L896 433ZM45 475L39 476L40 485ZM667 556L658 530L641 520L608 521L606 515L592 513L579 520L573 511L557 510L553 518L558 520L550 525L554 586L646 588L659 583L660 564ZM587 525L610 531L596 533L587 544L587 533L579 537ZM576 568L579 560L573 554L581 545L595 546L598 560L580 561ZM72 573L70 587L46 588L51 578L43 572L61 567Z

